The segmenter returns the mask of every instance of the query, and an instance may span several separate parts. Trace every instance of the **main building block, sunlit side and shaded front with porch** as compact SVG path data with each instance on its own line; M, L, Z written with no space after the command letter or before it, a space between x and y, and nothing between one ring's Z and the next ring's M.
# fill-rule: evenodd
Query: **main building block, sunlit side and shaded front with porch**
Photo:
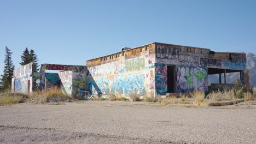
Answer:
M246 54L214 52L199 47L163 43L151 43L133 49L126 47L117 53L91 59L86 62L92 80L100 92L128 97L136 93L155 97L167 93L187 93L194 89L208 91L208 75L240 72L245 79ZM92 94L97 94L92 87Z

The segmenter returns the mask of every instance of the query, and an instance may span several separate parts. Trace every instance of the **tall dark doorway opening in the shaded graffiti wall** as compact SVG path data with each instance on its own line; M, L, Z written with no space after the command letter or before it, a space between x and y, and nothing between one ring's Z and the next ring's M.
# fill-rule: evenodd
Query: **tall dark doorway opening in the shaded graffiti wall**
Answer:
M175 66L167 65L167 93L175 92Z

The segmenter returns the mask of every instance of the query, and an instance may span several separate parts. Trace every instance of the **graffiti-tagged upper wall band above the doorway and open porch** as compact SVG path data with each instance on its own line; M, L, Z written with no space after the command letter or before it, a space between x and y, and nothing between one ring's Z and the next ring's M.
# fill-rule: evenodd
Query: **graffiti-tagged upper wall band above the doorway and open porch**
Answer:
M184 49L186 51L184 51ZM230 59L211 58L208 49L156 44L156 63L191 65L218 69L246 69L246 58L231 55Z

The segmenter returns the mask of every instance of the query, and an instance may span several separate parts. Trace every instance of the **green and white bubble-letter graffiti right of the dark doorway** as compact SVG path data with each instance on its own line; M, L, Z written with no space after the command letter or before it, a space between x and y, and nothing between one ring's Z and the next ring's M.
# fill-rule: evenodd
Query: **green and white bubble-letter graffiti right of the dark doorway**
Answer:
M192 92L208 90L207 70L203 67L180 66L177 71L177 92Z

